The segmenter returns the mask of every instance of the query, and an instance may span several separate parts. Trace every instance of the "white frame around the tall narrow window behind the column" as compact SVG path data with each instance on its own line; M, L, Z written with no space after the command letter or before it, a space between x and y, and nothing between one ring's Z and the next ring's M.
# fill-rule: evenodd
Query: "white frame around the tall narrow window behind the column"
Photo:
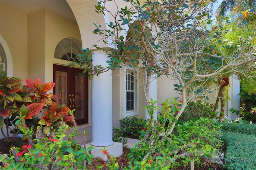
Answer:
M138 72L137 68L132 67L127 68L127 70ZM124 76L124 117L139 115L139 83L134 78L134 110L126 111L126 68L124 69Z

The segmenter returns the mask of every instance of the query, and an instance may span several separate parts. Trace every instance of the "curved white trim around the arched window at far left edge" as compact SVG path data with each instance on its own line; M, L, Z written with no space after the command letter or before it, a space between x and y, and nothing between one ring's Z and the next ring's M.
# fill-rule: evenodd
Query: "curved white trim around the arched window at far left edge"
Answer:
M1 35L0 35L1 36ZM4 38L1 36L0 38L0 42L2 47L4 48L4 53L6 55L6 63L7 63L7 77L12 77L13 75L13 71L12 71L12 54L11 51L8 47L8 44L6 43L6 41L4 40Z

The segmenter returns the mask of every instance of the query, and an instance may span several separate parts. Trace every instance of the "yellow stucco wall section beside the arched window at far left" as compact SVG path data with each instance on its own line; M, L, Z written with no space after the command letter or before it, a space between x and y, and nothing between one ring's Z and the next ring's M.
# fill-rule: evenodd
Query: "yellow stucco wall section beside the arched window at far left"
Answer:
M20 77L23 80L28 77L27 23L26 14L1 5L0 34L6 41L12 55L12 76Z

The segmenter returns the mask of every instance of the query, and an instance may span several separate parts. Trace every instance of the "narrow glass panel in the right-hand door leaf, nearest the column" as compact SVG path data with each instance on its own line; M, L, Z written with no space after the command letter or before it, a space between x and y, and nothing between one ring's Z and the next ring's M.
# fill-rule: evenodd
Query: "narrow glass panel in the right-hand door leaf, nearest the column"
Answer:
M79 73L75 75L75 109L76 119L85 118L84 115L84 77Z

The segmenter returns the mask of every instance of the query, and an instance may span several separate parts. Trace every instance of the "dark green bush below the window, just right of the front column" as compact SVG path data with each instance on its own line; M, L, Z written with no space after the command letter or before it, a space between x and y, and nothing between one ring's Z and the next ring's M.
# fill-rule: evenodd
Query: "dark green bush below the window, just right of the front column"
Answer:
M125 117L120 120L120 128L113 128L113 140L122 137L139 139L141 130L145 127L146 122L144 119L138 117Z

